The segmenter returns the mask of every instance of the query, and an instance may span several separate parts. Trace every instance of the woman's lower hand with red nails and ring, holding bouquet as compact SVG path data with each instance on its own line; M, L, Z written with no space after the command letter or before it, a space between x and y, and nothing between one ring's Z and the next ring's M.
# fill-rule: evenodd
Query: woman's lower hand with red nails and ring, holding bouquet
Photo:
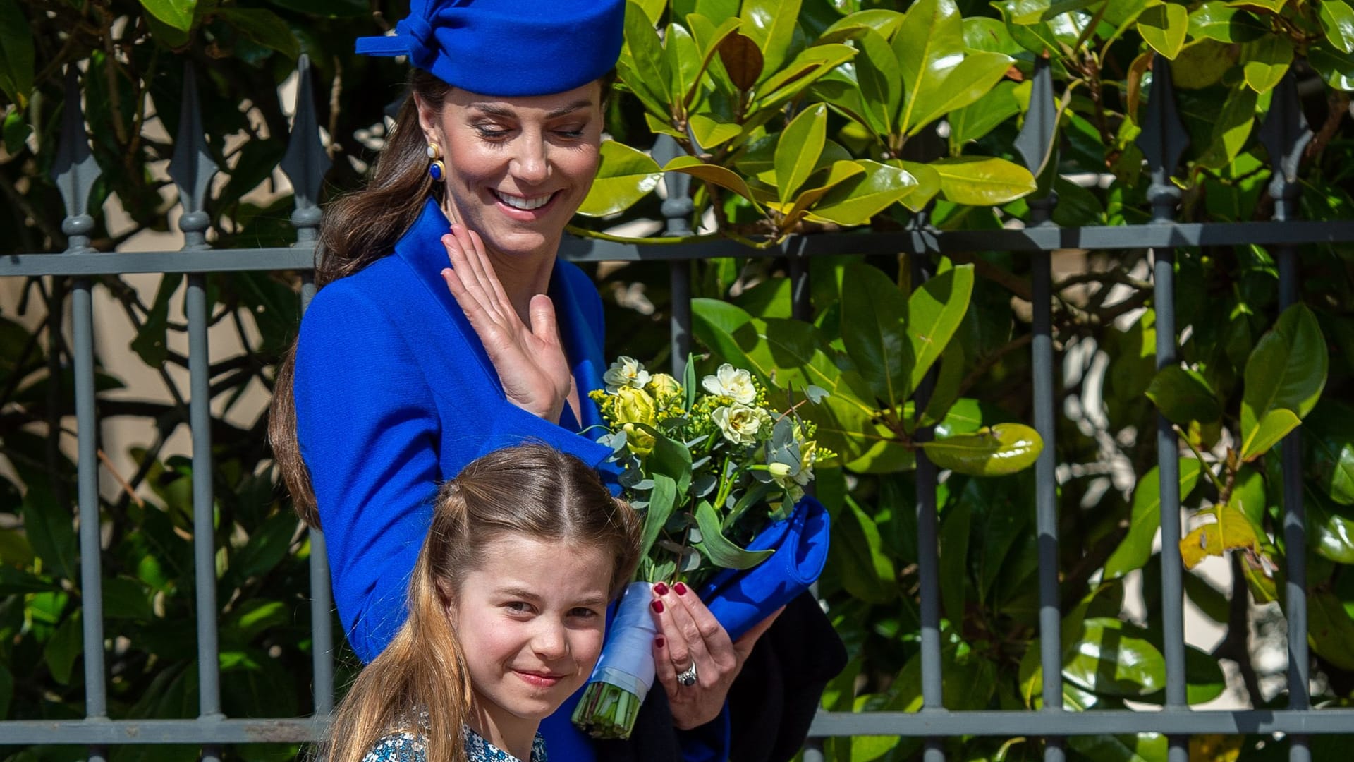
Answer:
M654 586L650 611L658 624L654 637L654 667L658 682L668 690L673 724L688 731L719 716L728 698L728 687L743 670L743 662L757 645L757 639L776 621L776 613L746 635L731 641L728 632L689 587L677 583ZM695 664L696 682L682 685L677 675Z

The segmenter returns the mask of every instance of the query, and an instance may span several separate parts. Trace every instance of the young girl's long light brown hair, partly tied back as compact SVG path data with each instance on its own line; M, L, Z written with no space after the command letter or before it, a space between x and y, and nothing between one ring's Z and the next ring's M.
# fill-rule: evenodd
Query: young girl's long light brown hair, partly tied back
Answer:
M357 675L318 758L362 762L382 736L421 736L427 762L464 762L470 678L447 617L466 575L494 540L517 534L601 548L615 559L611 594L639 563L640 523L581 460L546 445L497 450L443 484L409 579L409 618Z

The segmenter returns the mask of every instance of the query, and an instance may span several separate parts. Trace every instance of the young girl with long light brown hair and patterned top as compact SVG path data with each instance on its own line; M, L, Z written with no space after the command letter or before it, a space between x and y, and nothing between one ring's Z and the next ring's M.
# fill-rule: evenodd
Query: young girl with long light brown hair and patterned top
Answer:
M328 762L544 762L536 732L592 674L639 519L544 445L445 483L409 580L409 618L338 706Z

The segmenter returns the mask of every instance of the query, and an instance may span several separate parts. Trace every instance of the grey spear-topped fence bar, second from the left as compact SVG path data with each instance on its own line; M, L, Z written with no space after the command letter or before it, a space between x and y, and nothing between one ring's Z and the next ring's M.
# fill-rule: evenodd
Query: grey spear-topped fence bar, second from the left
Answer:
M192 64L184 66L179 136L169 178L179 187L184 249L204 249L211 218L203 210L217 167L203 138L198 85ZM198 605L198 715L219 720L221 660L217 639L215 499L211 484L211 366L207 354L207 278L190 274L184 298L188 319L188 427L192 433L192 560ZM203 762L218 762L221 747L203 746Z

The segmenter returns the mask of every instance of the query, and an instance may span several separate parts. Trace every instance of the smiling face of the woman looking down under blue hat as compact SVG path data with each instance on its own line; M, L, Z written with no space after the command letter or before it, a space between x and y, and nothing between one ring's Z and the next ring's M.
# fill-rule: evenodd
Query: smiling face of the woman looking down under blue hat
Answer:
M588 195L601 144L601 84L493 98L452 88L440 113L418 103L447 164L447 213L501 256L554 256Z

